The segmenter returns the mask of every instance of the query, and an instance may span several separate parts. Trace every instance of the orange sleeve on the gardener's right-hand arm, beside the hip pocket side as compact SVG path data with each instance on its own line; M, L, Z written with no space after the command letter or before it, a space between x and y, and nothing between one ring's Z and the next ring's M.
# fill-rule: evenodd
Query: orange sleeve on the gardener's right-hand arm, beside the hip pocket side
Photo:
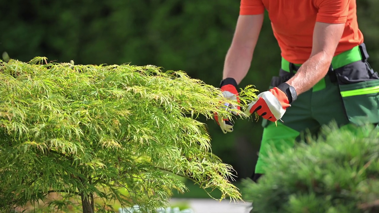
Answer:
M316 22L345 23L348 19L350 0L315 0L318 8Z

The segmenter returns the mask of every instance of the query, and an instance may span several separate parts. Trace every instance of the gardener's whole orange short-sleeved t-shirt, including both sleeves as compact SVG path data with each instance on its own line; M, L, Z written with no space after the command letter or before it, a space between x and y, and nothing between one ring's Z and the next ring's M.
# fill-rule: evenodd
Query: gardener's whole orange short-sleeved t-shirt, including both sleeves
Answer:
M315 22L345 23L335 55L363 42L356 0L241 0L240 15L262 14L265 9L282 57L294 64L308 60Z

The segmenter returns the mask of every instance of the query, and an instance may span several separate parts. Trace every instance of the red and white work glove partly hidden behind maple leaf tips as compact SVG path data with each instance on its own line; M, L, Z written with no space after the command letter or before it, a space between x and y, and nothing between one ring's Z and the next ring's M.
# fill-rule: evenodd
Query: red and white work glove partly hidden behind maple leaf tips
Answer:
M237 82L234 80L234 78L225 78L221 81L220 89L222 91L222 95L226 97L228 100L236 100L238 103L240 103L240 98L238 97L238 91L237 91ZM225 108L231 108L234 110L240 110L240 106L236 105L229 105L228 103L225 104ZM232 111L234 115L237 115L236 112ZM215 113L215 120L217 124L220 126L222 132L233 132L233 123L229 121L227 118L222 118L221 116L218 116L217 113Z

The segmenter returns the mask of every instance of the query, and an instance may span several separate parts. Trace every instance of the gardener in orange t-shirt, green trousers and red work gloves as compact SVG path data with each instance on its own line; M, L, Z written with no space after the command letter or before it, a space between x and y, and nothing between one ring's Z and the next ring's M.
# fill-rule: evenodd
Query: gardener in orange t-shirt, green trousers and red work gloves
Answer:
M302 133L316 135L331 121L339 127L379 122L379 77L367 63L355 0L241 0L220 86L225 97L238 99L237 85L249 70L265 9L282 65L270 89L245 112L264 119L255 181L265 173L268 146L292 147ZM233 131L232 122L215 118L224 133Z

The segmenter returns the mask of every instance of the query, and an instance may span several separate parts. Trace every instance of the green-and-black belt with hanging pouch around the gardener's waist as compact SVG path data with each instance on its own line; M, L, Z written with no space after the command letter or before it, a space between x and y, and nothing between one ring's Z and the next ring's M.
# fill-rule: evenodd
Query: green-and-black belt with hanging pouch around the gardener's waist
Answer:
M312 88L317 92L327 84L338 86L346 117L354 124L379 123L379 77L368 64L368 58L364 43L334 56L326 77ZM270 87L288 81L300 66L282 58L279 76L272 78Z

